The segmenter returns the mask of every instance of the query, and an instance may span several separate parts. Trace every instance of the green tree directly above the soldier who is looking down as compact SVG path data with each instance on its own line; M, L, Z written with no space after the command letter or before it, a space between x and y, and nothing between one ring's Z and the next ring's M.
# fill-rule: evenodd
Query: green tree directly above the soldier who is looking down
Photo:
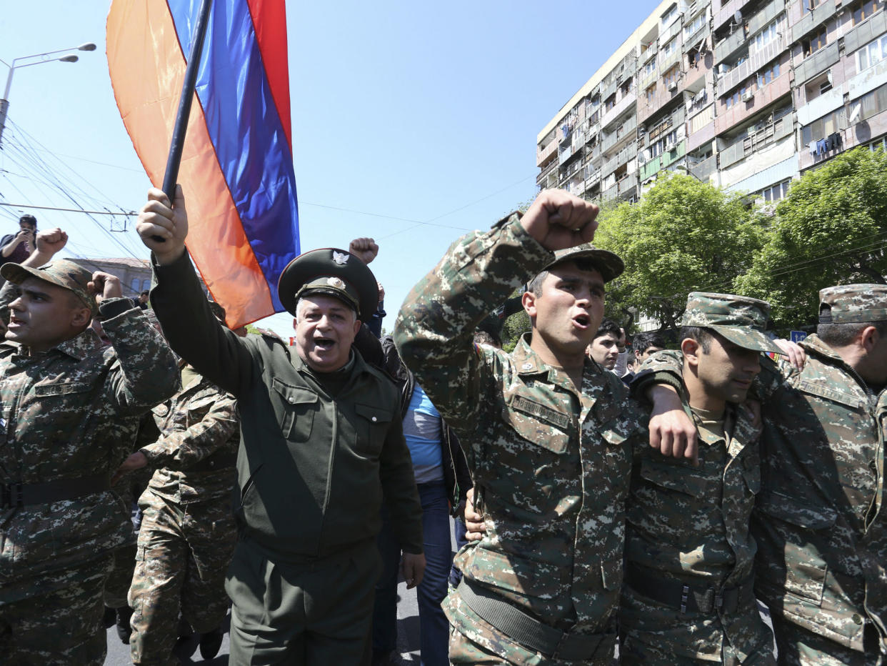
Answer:
M607 316L626 324L645 313L674 328L690 291L733 289L765 236L743 199L672 173L640 202L602 210L594 244L625 262L624 274L608 284Z

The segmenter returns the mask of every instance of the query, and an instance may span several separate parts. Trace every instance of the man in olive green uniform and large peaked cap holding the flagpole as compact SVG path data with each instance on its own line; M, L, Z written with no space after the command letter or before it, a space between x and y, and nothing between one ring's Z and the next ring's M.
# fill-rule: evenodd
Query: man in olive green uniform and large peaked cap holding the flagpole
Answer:
M295 353L278 338L237 337L209 312L184 250L184 197L175 209L160 190L149 199L138 232L153 250L151 302L169 344L239 405L231 662L360 663L383 493L411 586L424 568L396 387L351 346L378 305L373 274L345 250L295 258L278 285L296 317Z

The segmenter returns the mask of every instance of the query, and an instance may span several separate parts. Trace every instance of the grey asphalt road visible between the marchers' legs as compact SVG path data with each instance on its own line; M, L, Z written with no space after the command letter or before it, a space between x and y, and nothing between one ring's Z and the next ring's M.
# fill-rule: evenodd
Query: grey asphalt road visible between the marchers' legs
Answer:
M452 538L452 520L450 521L450 532ZM456 549L455 541L452 542L453 551ZM416 603L416 591L407 590L406 583L403 580L397 584L397 651L401 654L404 664L410 666L419 665L419 606ZM200 656L199 638L194 637L187 640L179 640L174 654L177 655L179 663L201 663L212 664L212 666L223 666L228 663L228 623L231 620L231 614L224 621L224 642L222 649L215 658L205 661ZM117 630L115 627L107 630L108 652L105 658L106 666L127 666L131 664L130 646L123 645L120 638L117 638Z

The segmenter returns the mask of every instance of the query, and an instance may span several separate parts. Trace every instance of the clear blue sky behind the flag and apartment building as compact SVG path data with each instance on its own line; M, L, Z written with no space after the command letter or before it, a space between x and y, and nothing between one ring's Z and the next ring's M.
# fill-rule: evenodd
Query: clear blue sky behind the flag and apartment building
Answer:
M302 250L373 236L390 329L408 290L451 242L535 194L538 131L657 4L287 3ZM114 104L107 7L4 3L0 59L98 44L74 64L17 69L9 119L67 164L66 181L79 183L87 208L137 210L149 183ZM5 75L0 65L0 85ZM0 150L0 202L67 207L20 177L22 159L8 145ZM147 256L134 218L112 240L80 214L35 214L43 228L65 228L76 255ZM0 207L0 231L19 215ZM290 321L265 325L288 335Z

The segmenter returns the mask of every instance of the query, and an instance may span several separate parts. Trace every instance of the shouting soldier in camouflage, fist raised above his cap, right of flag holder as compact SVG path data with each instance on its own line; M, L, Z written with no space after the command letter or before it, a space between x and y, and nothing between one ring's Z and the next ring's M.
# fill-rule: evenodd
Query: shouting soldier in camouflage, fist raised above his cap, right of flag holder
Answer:
M444 600L453 663L609 664L622 586L624 500L640 413L585 357L616 255L566 250L593 237L597 207L539 194L468 234L404 301L395 340L443 418L470 442L488 533L457 558ZM553 253L552 250L563 250ZM541 273L540 273L541 272ZM508 354L475 327L533 275L532 331Z

